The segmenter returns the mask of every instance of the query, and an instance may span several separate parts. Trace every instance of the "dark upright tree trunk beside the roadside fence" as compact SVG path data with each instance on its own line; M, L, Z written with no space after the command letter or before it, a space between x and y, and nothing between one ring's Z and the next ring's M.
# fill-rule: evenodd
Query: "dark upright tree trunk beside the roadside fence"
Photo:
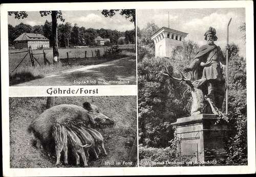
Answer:
M53 34L53 63L56 62L54 60L54 57L56 59L57 57L57 62L59 62L59 52L58 52L58 31L57 31L57 11L52 11L52 34Z

